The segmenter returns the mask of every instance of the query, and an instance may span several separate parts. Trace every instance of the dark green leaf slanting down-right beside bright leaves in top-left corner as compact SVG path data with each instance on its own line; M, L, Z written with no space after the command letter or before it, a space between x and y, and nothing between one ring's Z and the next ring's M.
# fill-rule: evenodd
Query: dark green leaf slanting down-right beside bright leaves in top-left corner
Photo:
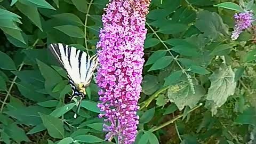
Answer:
M25 5L19 2L15 5L21 13L26 15L41 31L43 31L37 7Z

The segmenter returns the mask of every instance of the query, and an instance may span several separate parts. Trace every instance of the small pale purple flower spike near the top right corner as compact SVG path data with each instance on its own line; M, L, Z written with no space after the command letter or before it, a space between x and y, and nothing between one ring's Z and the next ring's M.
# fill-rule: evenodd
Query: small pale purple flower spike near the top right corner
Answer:
M234 15L236 25L234 31L232 32L231 39L235 41L242 31L246 28L252 27L252 17L253 14L250 12L236 13Z

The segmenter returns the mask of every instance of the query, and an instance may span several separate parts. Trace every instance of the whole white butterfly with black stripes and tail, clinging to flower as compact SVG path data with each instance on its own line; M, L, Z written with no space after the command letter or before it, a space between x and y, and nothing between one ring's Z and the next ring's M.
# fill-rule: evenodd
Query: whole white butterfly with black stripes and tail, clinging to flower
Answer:
M68 74L72 90L71 101L76 97L80 98L74 115L76 118L82 98L86 95L85 89L89 86L93 71L98 65L97 54L90 57L89 54L76 49L76 47L61 43L50 44L49 49Z

